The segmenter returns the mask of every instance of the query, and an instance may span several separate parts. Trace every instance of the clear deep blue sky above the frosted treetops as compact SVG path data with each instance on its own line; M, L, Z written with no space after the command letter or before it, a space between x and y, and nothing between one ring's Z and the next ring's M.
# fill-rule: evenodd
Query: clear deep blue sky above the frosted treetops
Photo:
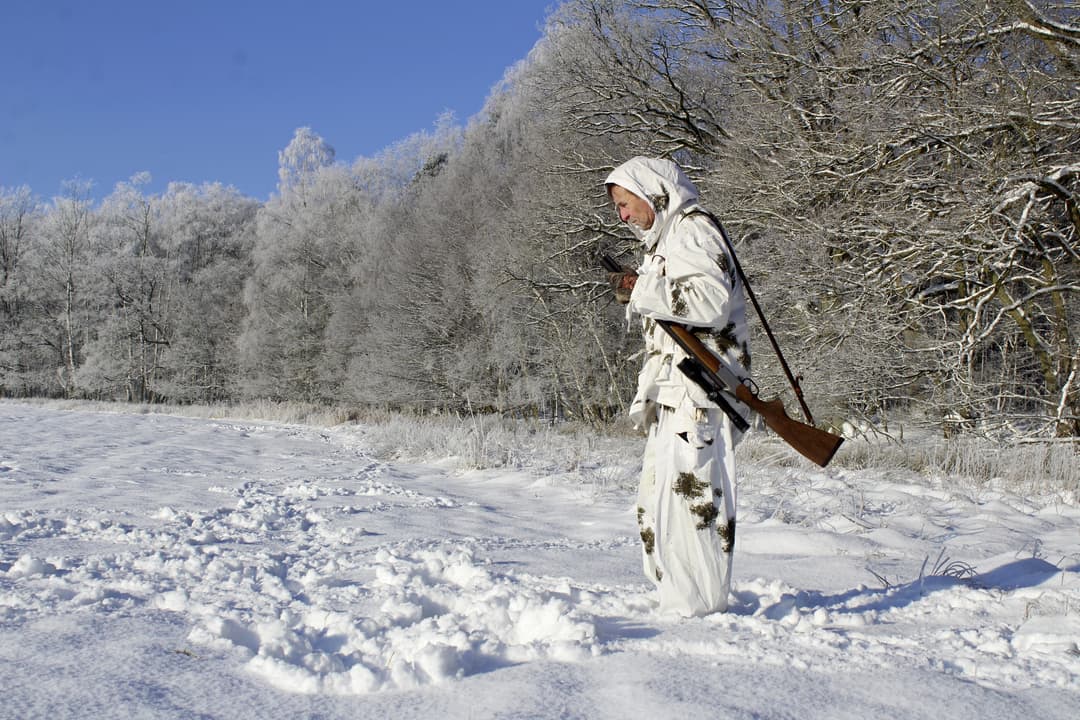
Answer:
M480 111L555 0L2 0L0 186L138 172L265 200L310 126L352 161Z

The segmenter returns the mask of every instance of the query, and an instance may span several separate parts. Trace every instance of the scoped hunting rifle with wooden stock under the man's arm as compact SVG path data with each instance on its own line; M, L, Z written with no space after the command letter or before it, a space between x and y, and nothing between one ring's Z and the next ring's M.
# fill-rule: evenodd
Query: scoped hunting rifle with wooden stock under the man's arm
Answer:
M602 260L608 272L624 272L611 257L604 255ZM686 357L677 365L678 369L705 391L708 399L731 419L735 427L745 432L748 425L727 402L728 397L733 397L756 412L772 432L809 460L824 467L833 459L843 441L842 437L791 418L779 398L759 398L757 391L753 389L753 381L740 380L685 325L665 320L656 322L686 353Z

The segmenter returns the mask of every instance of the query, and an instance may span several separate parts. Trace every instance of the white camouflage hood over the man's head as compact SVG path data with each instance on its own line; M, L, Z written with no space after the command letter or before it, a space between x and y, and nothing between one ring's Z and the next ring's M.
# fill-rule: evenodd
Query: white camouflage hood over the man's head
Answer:
M687 205L698 201L698 188L683 168L670 160L633 158L616 167L605 186L618 185L652 205L657 219L648 230L631 226L646 248L656 246L664 228Z

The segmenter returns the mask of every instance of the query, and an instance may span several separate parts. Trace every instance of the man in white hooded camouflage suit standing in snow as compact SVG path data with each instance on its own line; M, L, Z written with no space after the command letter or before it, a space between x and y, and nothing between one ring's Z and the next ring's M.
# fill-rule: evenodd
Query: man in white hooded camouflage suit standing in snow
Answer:
M634 158L606 179L619 218L644 244L636 272L609 280L642 316L646 359L630 415L648 439L637 499L647 576L661 612L728 608L741 433L676 365L683 351L654 322L685 325L740 378L750 377L743 286L719 227L673 162ZM731 400L744 416L746 408Z

